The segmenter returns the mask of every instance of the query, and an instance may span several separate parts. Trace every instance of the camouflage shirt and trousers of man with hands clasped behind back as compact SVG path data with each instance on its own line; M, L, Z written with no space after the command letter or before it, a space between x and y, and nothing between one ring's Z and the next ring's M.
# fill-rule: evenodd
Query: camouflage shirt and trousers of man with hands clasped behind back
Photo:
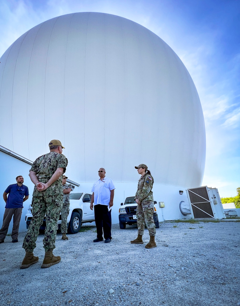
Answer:
M47 183L53 176L57 168L67 167L67 159L63 154L49 152L38 157L33 163L30 171L37 174L39 182ZM63 172L63 173L64 173ZM36 247L36 240L39 234L39 228L46 220L45 236L43 239L45 252L51 252L55 248L55 239L57 233L57 221L63 206L63 184L62 175L51 186L44 191L38 191L36 186L32 198L32 219L24 238L23 248L26 252L33 252Z

